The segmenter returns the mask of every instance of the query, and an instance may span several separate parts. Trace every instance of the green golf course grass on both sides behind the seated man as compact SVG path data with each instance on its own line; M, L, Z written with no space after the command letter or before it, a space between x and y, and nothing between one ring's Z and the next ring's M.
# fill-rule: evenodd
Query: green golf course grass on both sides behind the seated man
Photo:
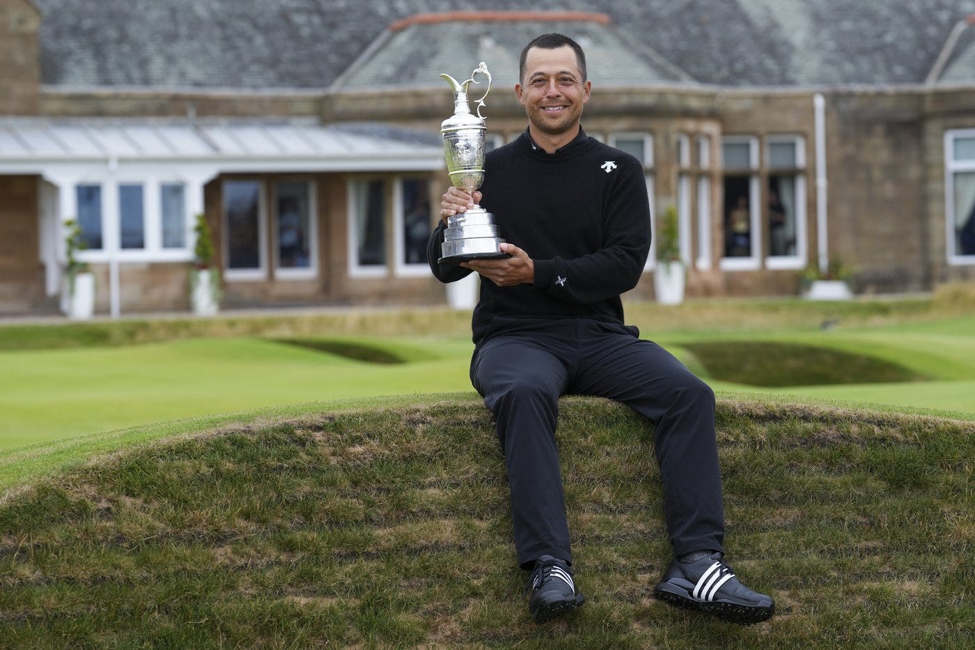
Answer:
M898 311L901 307L896 303L847 305L846 309L859 311L845 317L850 321L848 325L842 322L829 330L815 324L829 316L833 307L819 307L818 311L809 313L813 308L809 305L785 302L746 303L730 308L690 304L671 311L654 305L634 305L632 312L644 338L673 351L720 395L756 395L786 402L868 404L888 411L921 410L975 419L975 316L949 314L941 318L917 318L914 317L917 304L904 305L907 316ZM699 315L702 309L712 309L718 316ZM863 315L857 316L860 312ZM668 322L668 316L674 319L673 323ZM81 343L58 348L51 346L58 340L50 328L37 328L36 336L20 328L18 336L23 341L43 343L37 349L0 351L0 449L289 404L383 395L473 392L468 378L473 345L464 331L466 318L462 314L460 317L424 316L420 312L405 312L399 317L401 327L397 327L394 315L376 317L377 321L384 319L385 327L392 331L409 333L412 326L412 334L403 336L349 335L349 327L364 332L374 328L368 320L357 318L344 326L339 321L331 323L343 332L331 337L328 332L310 336L307 324L303 325L303 338L328 344L321 345L323 349L290 345L261 336L259 323L254 321L245 323L250 330L238 327L253 332L248 336L230 334L129 345ZM858 318L864 322L858 322ZM442 327L447 321L449 325ZM803 326L802 321L813 325ZM300 321L294 322L298 327ZM173 329L182 336L184 330L196 323L210 324L187 321ZM721 323L725 327L716 327ZM87 324L77 329L94 341L108 341L107 335L94 335L117 332L124 326L124 323L119 326ZM161 339L165 339L166 326L165 321L146 325L153 328L153 336ZM288 320L279 318L267 327L276 333L286 331ZM441 329L446 333L437 334ZM64 334L73 331L68 329ZM711 376L708 360L696 358L688 351L693 345L720 347L723 342L743 341L869 355L925 379L806 386L800 375L795 386L750 386ZM395 354L402 363L376 363L326 351L343 343L375 347L383 353ZM761 363L790 361L766 358L773 355L762 354L761 346L759 349L753 356L759 357ZM838 372L841 371L839 368Z

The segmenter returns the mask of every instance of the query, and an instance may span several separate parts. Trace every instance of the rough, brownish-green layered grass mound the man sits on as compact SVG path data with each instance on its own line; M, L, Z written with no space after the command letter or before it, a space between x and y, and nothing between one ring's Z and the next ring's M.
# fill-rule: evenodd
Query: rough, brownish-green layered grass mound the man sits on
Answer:
M722 401L728 557L777 614L657 602L652 427L566 398L577 581L542 627L473 400L232 427L0 506L0 646L960 647L975 615L975 426Z

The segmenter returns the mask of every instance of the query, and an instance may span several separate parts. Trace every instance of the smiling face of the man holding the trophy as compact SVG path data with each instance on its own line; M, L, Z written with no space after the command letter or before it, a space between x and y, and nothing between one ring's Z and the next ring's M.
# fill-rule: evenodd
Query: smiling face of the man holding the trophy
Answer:
M528 50L525 77L515 86L515 95L525 106L532 140L550 153L571 142L579 133L582 105L589 101L591 88L569 46Z

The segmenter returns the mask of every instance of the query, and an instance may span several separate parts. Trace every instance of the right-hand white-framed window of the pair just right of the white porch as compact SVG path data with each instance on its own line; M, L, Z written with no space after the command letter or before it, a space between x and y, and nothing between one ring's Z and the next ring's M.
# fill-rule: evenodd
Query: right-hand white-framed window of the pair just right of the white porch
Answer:
M312 186L306 181L274 184L276 278L314 277L317 246Z

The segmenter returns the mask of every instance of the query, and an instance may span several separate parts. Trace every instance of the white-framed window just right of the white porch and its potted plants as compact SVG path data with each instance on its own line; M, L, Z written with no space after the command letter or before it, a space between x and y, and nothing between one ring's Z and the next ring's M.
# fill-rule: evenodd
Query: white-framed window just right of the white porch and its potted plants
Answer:
M223 182L223 231L227 280L258 280L266 276L261 183Z

